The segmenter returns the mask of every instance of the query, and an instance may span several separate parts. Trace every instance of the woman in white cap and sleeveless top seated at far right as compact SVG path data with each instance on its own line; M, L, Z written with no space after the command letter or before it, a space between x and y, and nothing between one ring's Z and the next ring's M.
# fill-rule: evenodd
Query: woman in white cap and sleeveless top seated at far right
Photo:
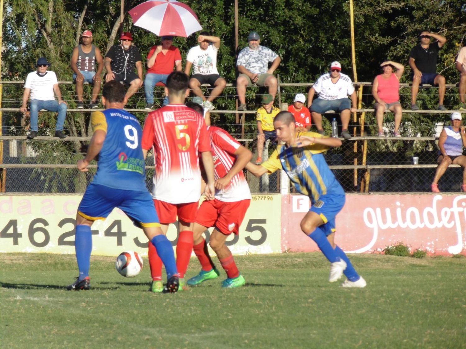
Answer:
M439 166L431 184L433 193L440 193L439 179L450 164L464 168L461 190L466 193L466 156L463 155L463 149L466 148L465 127L461 124L461 114L458 112L452 113L451 119L452 126L445 127L439 137L440 155L437 159Z

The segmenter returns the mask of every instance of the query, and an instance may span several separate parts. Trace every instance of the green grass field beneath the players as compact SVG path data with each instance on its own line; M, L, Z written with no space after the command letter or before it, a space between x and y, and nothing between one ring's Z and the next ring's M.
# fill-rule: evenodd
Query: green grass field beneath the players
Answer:
M125 279L92 256L89 291L62 287L74 255L0 254L2 348L466 348L466 258L350 255L365 289L328 282L320 253L236 257L221 278L148 292L147 259ZM192 259L188 276L198 272Z

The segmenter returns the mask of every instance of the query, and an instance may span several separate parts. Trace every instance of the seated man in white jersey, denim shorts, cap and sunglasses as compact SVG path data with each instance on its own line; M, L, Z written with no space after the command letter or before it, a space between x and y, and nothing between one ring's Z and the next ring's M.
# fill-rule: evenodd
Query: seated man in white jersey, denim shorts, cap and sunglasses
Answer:
M356 91L353 83L348 75L340 73L342 65L340 62L334 61L330 64L330 73L323 74L315 81L313 87L308 93L308 108L312 113L317 132L324 134L322 128L322 114L333 110L340 113L342 120L341 136L348 140L351 134L348 132L349 118L351 113L356 112ZM319 97L312 101L315 93ZM351 98L349 103L348 96Z

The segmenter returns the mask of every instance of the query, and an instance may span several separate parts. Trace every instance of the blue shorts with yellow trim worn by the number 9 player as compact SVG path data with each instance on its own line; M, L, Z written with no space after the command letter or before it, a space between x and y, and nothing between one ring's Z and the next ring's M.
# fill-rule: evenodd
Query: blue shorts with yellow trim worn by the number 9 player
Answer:
M139 228L160 227L154 201L148 191L123 190L90 183L78 207L78 214L96 221L104 220L120 208Z

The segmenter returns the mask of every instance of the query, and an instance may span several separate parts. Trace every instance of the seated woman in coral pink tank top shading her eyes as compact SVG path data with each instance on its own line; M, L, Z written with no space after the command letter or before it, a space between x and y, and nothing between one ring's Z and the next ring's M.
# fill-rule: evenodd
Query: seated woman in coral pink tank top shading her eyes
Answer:
M384 135L382 122L384 121L385 109L389 109L395 114L395 130L393 136L401 137L398 128L400 127L403 108L400 103L399 89L404 66L391 60L383 62L380 66L384 73L377 75L372 84L372 95L376 100L374 107L376 110L378 135ZM395 73L393 72L394 68L397 69Z

